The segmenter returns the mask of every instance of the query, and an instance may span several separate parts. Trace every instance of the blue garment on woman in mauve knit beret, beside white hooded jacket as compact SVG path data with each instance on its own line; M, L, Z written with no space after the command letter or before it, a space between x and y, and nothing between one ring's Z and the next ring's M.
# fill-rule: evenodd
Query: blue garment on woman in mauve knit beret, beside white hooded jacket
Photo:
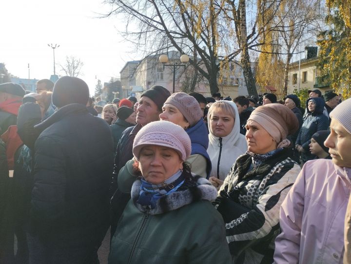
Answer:
M207 128L205 122L201 118L193 127L190 127L185 132L188 133L191 144L192 144L192 152L191 154L200 154L205 157L207 162L206 172L207 179L210 177L210 173L212 170L212 164L209 154L207 153L207 148L209 144Z

